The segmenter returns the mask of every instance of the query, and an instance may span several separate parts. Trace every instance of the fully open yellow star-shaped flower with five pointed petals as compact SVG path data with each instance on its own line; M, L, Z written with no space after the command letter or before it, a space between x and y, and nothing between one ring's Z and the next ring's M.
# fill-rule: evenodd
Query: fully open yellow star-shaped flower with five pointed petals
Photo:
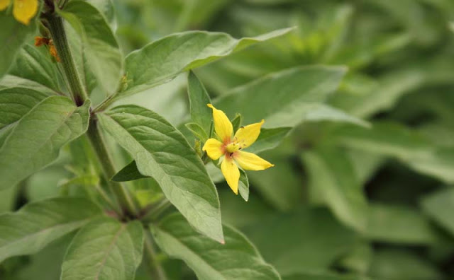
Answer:
M207 104L213 110L214 131L221 141L210 138L205 142L203 151L213 160L224 156L221 163L221 171L226 177L227 184L238 194L238 180L240 180L240 170L238 165L245 170L264 170L275 166L254 153L240 151L248 148L257 140L263 122L249 124L240 127L232 138L233 126L224 112L217 110L213 105Z

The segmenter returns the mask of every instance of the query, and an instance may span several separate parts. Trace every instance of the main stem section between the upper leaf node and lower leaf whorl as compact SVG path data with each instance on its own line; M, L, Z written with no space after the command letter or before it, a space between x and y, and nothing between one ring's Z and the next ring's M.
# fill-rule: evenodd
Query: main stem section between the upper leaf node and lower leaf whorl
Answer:
M138 206L135 204L135 200L131 197L131 194L128 192L128 189L121 185L118 182L112 182L111 177L116 174L114 164L111 161L109 153L106 148L106 144L104 143L104 139L101 136L101 132L99 131L96 119L92 117L89 124L89 129L87 131L87 136L89 138L90 143L92 144L94 153L96 154L96 158L101 165L101 170L104 175L104 179L106 180L107 184L109 185L111 192L114 192L116 195L118 202L123 208L126 210L126 216L135 217L138 215Z

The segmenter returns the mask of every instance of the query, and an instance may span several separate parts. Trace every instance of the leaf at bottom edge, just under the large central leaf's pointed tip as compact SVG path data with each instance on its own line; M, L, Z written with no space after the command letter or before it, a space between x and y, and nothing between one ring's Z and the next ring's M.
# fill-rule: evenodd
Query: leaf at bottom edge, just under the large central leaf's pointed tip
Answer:
M194 231L179 214L151 226L157 245L170 257L184 260L198 279L280 279L243 234L228 226L223 229L226 243L219 244Z

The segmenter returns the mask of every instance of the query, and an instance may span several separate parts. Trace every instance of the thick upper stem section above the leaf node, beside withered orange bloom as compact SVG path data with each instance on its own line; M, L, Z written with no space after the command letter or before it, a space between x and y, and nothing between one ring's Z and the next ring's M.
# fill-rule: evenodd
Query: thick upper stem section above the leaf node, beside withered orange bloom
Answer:
M52 36L53 44L57 49L67 83L70 86L72 98L74 99L74 103L76 103L77 106L80 106L88 99L88 95L82 86L74 64L65 28L63 27L63 20L60 16L55 14L48 16L46 19L48 21L48 28L50 30L50 35Z

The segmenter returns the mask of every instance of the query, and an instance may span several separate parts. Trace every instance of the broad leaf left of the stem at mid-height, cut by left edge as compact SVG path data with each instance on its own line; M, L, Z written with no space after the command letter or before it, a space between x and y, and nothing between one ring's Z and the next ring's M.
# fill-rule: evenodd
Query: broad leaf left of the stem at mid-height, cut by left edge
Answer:
M21 117L0 148L0 189L52 163L63 145L86 132L89 107L89 100L76 107L69 98L51 96Z

